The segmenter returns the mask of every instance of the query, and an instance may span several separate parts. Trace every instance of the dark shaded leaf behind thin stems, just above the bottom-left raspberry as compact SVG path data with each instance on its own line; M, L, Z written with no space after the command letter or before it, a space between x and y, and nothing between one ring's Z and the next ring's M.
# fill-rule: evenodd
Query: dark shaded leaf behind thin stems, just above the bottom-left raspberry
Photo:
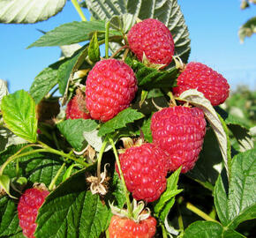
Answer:
M18 152L24 145L11 145L4 152L0 153L0 166L4 164L15 152ZM32 148L26 148L22 152L31 152ZM62 166L63 160L59 156L50 153L35 152L19 158L19 175L26 177L30 182L43 182L49 186L51 180L55 177L58 169ZM65 169L64 169L65 171ZM62 174L64 174L62 171ZM16 177L16 162L11 162L4 168L4 175L10 178ZM61 182L61 175L56 184Z

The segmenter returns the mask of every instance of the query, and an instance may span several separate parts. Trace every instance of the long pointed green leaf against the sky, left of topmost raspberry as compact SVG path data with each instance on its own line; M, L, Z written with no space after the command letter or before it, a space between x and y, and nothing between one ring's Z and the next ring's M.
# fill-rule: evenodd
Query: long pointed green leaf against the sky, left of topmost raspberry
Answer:
M45 33L28 48L46 46L64 46L88 41L93 33L98 33L98 38L103 39L105 33L105 21L73 21ZM120 35L117 31L109 31L109 36Z

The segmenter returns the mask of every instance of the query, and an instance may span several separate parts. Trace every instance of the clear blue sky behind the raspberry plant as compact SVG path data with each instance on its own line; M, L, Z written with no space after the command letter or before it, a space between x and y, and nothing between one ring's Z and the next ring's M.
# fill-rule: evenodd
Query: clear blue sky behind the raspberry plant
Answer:
M240 0L179 0L190 31L192 52L189 61L206 63L228 79L231 89L247 85L256 90L256 36L240 44L237 30L255 16L256 5L241 11ZM88 13L85 11L87 19ZM0 78L9 81L11 93L28 90L34 77L57 61L57 47L29 48L41 33L61 24L79 21L71 2L55 17L30 25L0 24Z

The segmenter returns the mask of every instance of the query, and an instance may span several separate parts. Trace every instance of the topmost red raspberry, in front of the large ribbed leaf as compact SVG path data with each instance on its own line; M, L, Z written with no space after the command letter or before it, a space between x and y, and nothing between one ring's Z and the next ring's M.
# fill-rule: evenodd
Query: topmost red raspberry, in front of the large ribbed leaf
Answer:
M129 31L128 43L132 52L142 61L143 52L150 63L165 64L174 55L174 41L169 29L157 19L145 19Z

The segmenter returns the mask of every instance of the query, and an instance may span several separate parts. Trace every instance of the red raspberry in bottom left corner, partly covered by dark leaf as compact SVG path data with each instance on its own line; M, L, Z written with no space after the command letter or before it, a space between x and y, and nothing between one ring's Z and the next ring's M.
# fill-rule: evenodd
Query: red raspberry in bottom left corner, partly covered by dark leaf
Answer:
M18 217L19 226L23 234L28 238L34 238L36 228L35 219L45 197L49 195L47 190L29 189L19 198Z

